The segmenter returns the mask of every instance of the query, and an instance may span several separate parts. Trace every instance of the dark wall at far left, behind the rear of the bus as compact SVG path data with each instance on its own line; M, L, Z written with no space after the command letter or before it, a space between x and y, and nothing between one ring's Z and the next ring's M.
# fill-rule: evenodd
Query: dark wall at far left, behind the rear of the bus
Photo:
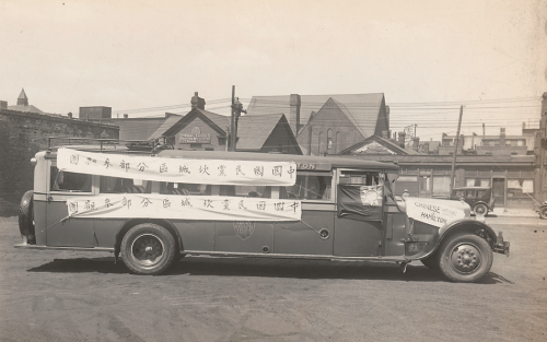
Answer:
M0 205L19 203L33 189L31 158L47 149L49 137L117 139L117 127L16 110L0 110Z

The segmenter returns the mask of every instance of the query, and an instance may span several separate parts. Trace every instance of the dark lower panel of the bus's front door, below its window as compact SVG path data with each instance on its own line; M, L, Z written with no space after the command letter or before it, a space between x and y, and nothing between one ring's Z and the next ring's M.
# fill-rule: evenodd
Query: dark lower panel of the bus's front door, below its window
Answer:
M380 252L382 222L335 217L335 256L373 257Z

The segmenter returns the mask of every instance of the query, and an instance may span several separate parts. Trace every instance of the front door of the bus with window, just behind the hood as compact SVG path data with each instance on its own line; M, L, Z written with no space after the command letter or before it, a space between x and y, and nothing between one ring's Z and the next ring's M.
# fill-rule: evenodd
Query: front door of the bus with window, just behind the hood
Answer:
M335 256L370 257L381 253L384 177L380 172L339 172Z

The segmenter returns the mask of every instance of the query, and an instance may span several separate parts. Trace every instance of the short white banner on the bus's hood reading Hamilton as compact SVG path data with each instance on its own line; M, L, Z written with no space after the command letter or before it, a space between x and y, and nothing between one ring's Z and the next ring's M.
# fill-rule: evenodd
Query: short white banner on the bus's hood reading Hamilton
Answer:
M465 219L459 201L407 197L407 216L442 228L456 220Z

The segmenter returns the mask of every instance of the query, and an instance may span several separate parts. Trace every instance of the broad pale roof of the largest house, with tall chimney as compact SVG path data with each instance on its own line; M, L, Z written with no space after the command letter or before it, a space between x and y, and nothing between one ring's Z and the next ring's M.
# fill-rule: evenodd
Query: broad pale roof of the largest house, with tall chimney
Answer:
M312 111L318 113L329 99L345 111L346 116L358 128L366 132L364 137L374 134L380 108L384 101L383 93L374 94L338 94L338 95L300 95L300 125L305 126ZM291 95L253 96L247 107L248 116L283 113L289 115ZM374 127L371 131L371 127Z

